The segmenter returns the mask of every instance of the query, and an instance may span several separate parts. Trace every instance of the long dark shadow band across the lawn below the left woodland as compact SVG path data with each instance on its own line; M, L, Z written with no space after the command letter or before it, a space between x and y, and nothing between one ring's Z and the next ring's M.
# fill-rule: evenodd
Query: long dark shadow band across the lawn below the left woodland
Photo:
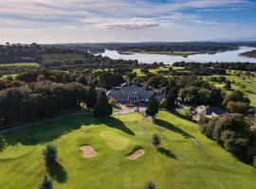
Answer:
M82 126L104 124L107 127L120 129L127 134L135 133L127 128L122 121L115 117L97 118L93 115L66 116L64 118L49 121L44 124L34 125L26 129L17 129L0 136L0 151L7 146L22 144L24 146L35 146L51 142L65 133L81 129Z

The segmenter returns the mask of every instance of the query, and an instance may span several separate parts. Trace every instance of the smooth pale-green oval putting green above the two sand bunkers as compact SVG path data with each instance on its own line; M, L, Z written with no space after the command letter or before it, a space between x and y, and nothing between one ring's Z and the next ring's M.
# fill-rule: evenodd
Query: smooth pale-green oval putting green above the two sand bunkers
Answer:
M103 130L100 133L105 143L113 149L123 150L130 144L130 140L114 130Z

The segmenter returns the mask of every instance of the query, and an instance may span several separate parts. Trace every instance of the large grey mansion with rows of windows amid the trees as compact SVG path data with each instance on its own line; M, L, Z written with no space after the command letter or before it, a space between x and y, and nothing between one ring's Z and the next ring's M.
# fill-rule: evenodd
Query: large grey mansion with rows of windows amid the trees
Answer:
M162 96L159 90L145 84L129 82L107 92L107 97L114 97L118 102L141 102L148 101L153 94L158 98Z

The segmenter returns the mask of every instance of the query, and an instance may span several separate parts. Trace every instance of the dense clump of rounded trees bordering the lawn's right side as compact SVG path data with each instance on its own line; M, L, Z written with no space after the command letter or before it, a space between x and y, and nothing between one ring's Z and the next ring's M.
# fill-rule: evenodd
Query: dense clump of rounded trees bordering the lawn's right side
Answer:
M200 130L218 145L243 161L252 163L255 136L243 114L231 113L219 118L200 120Z

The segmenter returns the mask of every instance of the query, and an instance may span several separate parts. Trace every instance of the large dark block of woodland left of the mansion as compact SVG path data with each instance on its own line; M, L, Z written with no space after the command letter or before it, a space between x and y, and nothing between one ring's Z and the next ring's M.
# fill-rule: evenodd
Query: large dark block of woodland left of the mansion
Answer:
M78 102L94 108L97 93L80 83L35 82L0 91L2 125L15 125L78 110Z

